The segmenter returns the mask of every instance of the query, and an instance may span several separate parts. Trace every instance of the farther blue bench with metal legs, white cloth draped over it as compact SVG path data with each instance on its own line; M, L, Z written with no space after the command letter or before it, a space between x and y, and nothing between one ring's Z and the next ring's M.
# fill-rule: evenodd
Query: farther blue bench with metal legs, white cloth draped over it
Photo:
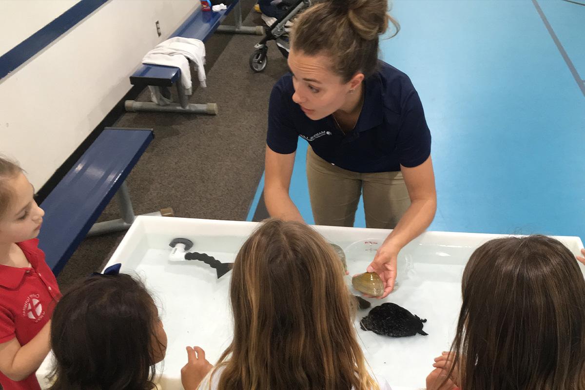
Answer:
M232 9L235 12L235 26L220 26L221 22ZM199 7L170 37L184 37L199 39L205 42L215 31L239 34L264 34L261 26L242 26L242 8L239 0L234 0L227 9L218 12L201 11ZM157 105L153 102L137 102L127 100L124 104L126 111L163 111L163 112L191 112L216 115L218 106L215 103L189 103L189 95L185 94L183 85L177 82L181 77L181 70L176 67L163 65L142 64L130 76L130 83L142 87L155 88L172 87L177 85L179 103Z

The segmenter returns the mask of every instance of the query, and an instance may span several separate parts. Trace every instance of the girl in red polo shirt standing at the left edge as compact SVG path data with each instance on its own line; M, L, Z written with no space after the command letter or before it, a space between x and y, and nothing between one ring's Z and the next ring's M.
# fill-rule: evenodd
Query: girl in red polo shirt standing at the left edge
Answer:
M50 318L60 298L37 247L44 211L15 163L0 157L0 384L40 389L35 371L49 353Z

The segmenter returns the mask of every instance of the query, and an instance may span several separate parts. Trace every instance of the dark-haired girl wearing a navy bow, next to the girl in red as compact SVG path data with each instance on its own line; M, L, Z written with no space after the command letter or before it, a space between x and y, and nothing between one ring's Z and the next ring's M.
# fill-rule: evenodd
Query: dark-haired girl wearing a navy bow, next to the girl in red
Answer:
M57 304L51 344L50 390L150 390L167 335L144 285L106 270L78 281Z

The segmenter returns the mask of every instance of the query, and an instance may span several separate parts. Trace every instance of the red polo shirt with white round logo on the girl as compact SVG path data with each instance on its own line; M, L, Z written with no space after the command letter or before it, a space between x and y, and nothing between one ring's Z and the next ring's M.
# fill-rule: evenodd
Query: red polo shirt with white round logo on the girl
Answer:
M31 267L0 265L0 343L16 337L23 346L49 322L61 293L57 279L38 247L39 240L17 244ZM19 382L0 372L0 384L4 390L40 389L34 372Z

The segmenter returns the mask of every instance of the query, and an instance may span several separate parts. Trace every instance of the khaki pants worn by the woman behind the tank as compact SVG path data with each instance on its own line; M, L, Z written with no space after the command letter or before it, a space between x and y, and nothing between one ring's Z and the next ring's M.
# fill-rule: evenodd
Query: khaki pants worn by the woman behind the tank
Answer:
M394 229L410 205L402 172L359 173L307 149L307 180L315 225L353 226L363 190L366 227Z

